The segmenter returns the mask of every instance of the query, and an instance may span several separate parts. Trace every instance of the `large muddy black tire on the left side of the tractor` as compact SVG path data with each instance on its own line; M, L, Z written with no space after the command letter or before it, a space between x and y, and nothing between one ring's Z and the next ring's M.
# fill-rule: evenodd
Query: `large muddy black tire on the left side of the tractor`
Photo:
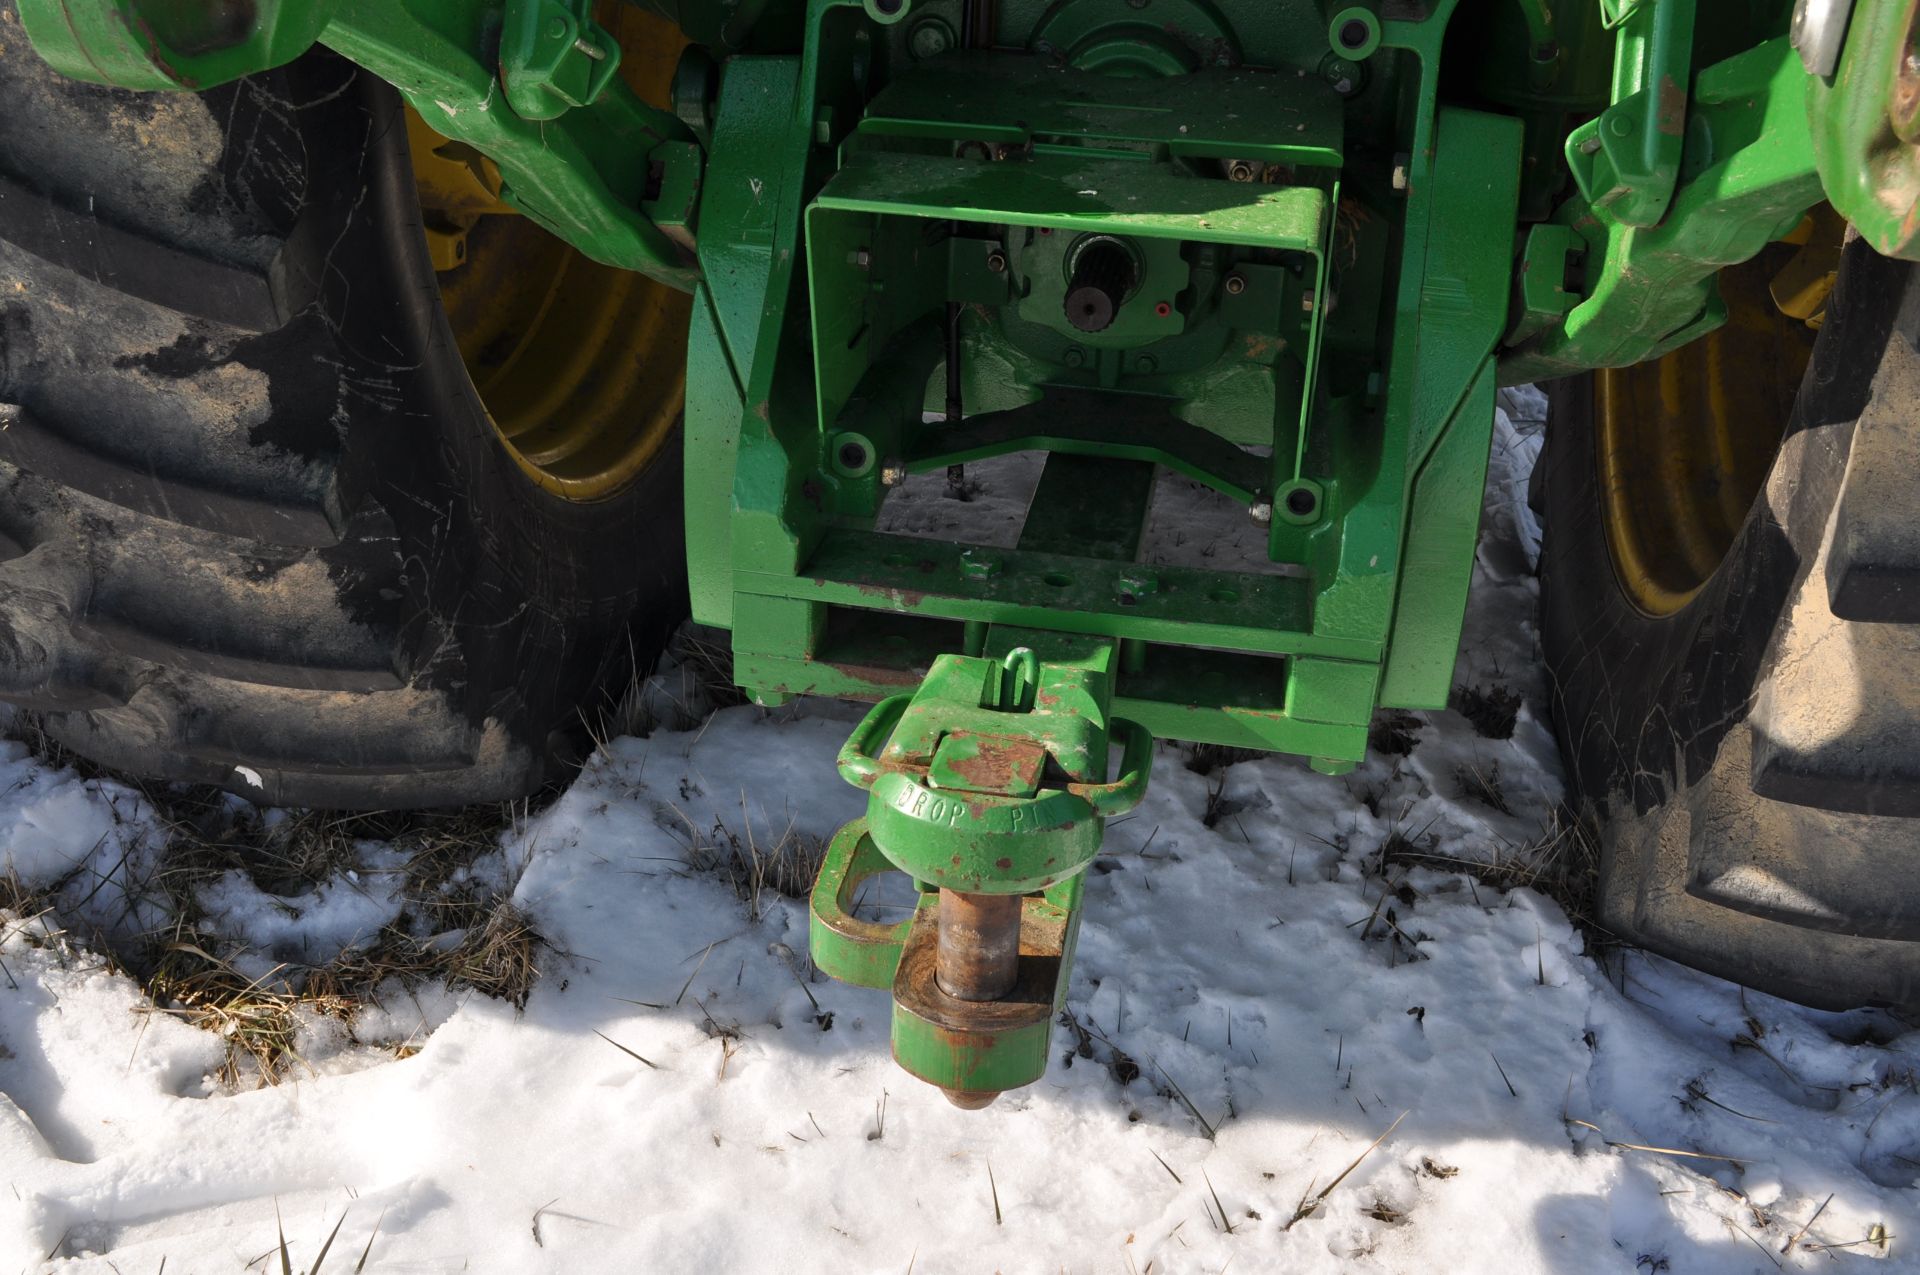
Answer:
M77 753L392 808L563 774L685 609L678 444L541 492L438 301L394 90L65 81L0 0L0 699Z

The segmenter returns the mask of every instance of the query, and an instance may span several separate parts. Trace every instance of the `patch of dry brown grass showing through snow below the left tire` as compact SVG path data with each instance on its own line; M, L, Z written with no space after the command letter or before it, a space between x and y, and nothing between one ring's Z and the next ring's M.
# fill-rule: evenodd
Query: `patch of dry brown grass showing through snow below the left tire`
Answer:
M67 939L125 972L169 1014L213 1031L225 1043L219 1079L238 1087L276 1083L298 1062L298 1041L317 1018L349 1023L390 989L442 983L524 1008L540 977L545 941L503 891L497 870L474 872L499 853L505 830L536 803L457 810L340 814L263 812L211 787L144 783L86 762L46 734L35 714L17 714L12 734L50 766L109 778L138 791L154 810L165 847L146 879L119 885L152 904L165 924L146 933L108 935L61 902L79 902L67 881L29 891L0 878L0 910L48 916ZM240 874L276 899L300 899L323 885L369 876L367 845L405 854L401 912L365 947L321 966L275 964L261 974L257 954L219 931L204 895ZM71 914L63 914L71 912ZM253 974L250 974L250 970ZM0 987L4 987L0 977Z

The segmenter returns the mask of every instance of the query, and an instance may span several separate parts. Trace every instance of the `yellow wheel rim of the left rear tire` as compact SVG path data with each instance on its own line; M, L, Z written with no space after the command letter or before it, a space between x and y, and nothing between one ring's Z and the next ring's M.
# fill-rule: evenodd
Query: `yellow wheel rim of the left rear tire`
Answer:
M632 4L599 19L620 36L622 79L668 102L680 29ZM499 171L411 109L407 132L440 301L501 442L559 497L616 495L680 421L691 300L515 215Z

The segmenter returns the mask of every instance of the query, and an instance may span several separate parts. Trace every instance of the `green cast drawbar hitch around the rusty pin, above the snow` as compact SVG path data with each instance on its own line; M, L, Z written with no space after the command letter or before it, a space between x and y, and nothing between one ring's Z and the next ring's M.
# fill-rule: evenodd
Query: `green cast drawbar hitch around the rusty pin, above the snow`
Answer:
M1018 634L1006 639L1018 641ZM841 776L868 789L820 868L808 939L814 962L895 993L893 1054L941 1089L987 1095L1046 1071L1066 997L1081 874L1110 816L1146 793L1154 739L1112 720L1117 643L1043 639L1000 659L943 655L920 689L881 701L841 749ZM1108 741L1125 739L1106 778ZM852 914L860 885L887 868L920 887L899 924ZM981 1004L931 977L941 893L1025 895L1014 991Z

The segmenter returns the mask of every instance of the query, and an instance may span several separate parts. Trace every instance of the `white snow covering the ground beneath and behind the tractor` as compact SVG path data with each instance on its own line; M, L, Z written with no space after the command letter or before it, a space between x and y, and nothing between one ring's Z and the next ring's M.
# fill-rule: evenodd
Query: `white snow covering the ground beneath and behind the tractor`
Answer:
M1536 449L1503 415L1459 668L1523 695L1511 735L1411 714L1340 780L1162 745L1041 1083L947 1106L889 1062L885 993L808 979L804 902L707 866L862 808L845 714L728 709L614 739L503 835L545 975L524 1012L420 993L357 1023L417 1052L315 1025L278 1087L223 1085L215 1037L0 918L0 1271L278 1269L276 1217L311 1263L342 1215L328 1271L369 1237L367 1271L1916 1269L1920 1035L1603 970L1546 897L1434 866L1524 862L1561 797ZM161 843L129 789L0 745L0 872L138 879ZM132 895L61 899L134 924ZM204 926L278 960L392 906L217 895Z

